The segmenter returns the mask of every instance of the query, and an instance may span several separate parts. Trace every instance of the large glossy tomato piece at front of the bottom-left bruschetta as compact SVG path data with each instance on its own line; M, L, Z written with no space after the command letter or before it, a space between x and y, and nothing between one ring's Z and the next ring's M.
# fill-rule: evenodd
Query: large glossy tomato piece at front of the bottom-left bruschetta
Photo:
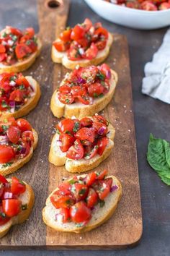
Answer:
M18 199L2 200L2 208L6 216L17 216L21 211L22 202Z

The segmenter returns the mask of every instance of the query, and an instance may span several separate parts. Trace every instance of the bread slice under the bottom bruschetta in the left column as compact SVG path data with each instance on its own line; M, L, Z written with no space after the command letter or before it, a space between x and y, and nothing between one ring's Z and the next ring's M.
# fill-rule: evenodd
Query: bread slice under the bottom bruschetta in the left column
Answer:
M8 181L10 182L11 179L8 179ZM26 191L23 194L19 195L18 198L19 198L19 200L22 201L22 205L27 204L27 209L22 210L18 216L12 217L10 219L10 221L8 221L4 225L0 226L0 238L2 236L6 235L6 233L9 231L9 229L13 225L26 221L27 218L30 216L30 213L31 213L32 207L34 205L34 201L35 201L35 195L32 190L32 187L30 187L30 185L27 184L26 182L24 182L24 183L26 184Z

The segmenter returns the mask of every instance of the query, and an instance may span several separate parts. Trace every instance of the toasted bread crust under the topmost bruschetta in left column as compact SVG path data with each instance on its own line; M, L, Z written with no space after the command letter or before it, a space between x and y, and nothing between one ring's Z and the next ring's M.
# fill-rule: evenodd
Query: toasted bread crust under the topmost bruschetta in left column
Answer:
M42 43L39 38L37 38L37 51L35 53L30 54L29 57L23 59L22 61L17 61L13 65L4 65L0 63L0 74L4 72L22 72L28 69L34 62L37 56L40 54L42 48Z

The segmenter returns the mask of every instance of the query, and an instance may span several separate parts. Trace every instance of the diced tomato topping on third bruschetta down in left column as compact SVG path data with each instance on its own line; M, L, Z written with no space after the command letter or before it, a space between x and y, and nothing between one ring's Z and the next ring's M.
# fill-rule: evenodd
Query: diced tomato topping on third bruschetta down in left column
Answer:
M28 155L33 142L32 127L27 120L11 117L0 121L1 168L9 167Z

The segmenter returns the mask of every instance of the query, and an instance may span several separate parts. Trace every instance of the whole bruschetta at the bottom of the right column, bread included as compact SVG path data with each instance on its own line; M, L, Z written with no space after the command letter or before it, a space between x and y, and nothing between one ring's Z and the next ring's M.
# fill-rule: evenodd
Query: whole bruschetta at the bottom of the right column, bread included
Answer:
M117 208L122 186L107 170L93 172L60 184L46 200L42 218L56 231L81 233L96 229Z

